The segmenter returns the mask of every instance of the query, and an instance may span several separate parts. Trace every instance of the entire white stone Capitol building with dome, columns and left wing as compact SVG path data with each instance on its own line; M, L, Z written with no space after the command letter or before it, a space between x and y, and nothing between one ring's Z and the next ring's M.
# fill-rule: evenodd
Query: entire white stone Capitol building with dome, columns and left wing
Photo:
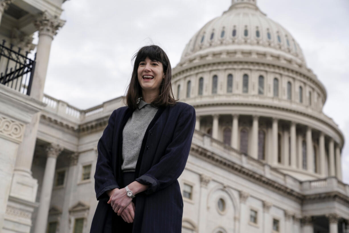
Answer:
M121 96L80 110L43 93L63 2L0 0L3 233L89 232L97 142L124 106ZM349 232L344 137L322 112L325 87L256 0L232 0L172 73L175 97L197 116L179 177L183 233Z

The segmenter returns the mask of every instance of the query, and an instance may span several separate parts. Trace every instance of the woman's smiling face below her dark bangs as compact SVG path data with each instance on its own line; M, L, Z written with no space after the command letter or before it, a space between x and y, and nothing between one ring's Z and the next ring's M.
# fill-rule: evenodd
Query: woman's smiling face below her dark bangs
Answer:
M139 63L137 73L142 91L159 91L162 79L165 77L161 62L152 61L147 57Z

